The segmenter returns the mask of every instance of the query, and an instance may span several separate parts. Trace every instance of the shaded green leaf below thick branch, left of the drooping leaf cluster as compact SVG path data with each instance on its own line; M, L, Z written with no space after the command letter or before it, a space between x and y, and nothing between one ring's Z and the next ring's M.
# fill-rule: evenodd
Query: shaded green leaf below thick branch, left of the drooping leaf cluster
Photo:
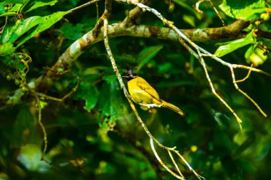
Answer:
M90 83L86 83L85 81L81 82L80 87L73 95L73 98L79 100L85 100L85 106L83 107L85 110L90 112L93 107L95 107L98 101L98 90L95 86Z

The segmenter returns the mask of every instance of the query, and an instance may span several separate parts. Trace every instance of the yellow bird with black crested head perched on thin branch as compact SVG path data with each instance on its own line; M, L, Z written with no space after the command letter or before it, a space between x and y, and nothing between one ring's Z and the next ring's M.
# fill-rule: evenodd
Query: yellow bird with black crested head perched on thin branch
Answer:
M131 68L127 69L128 72L123 78L127 78L128 80L128 91L131 95L131 99L140 105L143 110L148 110L150 107L167 107L182 116L185 115L183 111L175 105L161 100L156 90L143 78L133 73Z

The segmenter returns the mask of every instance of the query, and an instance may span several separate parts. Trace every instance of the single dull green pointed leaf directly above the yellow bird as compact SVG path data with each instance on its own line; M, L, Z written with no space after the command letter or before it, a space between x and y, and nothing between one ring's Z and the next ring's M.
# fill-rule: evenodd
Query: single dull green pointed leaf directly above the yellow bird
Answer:
M143 65L148 63L151 58L153 58L162 48L162 45L144 48L143 51L141 51L136 57L136 61L138 62L138 70L140 70Z

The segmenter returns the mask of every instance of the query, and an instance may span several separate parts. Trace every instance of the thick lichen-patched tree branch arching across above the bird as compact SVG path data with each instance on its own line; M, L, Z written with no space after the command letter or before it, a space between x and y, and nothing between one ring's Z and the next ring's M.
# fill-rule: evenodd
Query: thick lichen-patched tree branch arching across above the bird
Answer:
M77 41L71 44L66 51L58 58L55 65L51 67L44 75L29 83L29 88L35 89L37 92L46 92L60 77L59 74L53 72L62 72L76 60L83 51L94 43L103 41L103 16L96 23L93 30L89 31ZM223 38L237 38L240 36L242 29L247 27L246 21L238 20L229 26L221 28L203 28L203 29L180 29L191 41L221 41ZM158 26L133 25L127 28L126 21L108 25L108 38L119 36L135 36L143 38L160 38L171 41L178 41L178 34L171 28ZM20 89L9 95L1 95L0 108L21 102L21 97L25 96L25 92Z

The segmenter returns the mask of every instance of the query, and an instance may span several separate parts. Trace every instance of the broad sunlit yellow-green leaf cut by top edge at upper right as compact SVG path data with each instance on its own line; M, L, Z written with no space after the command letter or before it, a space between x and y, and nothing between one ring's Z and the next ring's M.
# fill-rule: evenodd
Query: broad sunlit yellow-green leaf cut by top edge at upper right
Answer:
M231 18L253 21L266 11L264 0L225 0L220 9Z

